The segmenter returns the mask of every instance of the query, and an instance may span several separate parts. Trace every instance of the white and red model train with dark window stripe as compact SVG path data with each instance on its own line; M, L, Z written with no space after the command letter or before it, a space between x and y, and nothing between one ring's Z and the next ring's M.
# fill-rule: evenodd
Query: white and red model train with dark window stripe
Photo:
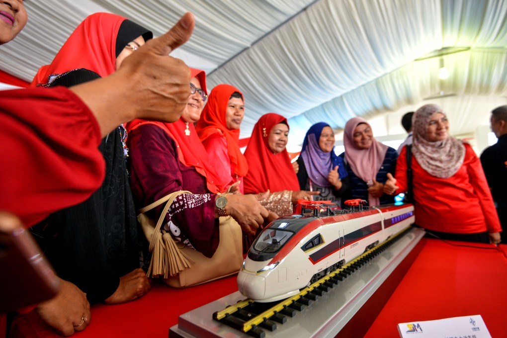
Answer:
M271 222L250 247L238 274L239 291L248 298L273 302L295 295L414 222L412 204L333 211L328 202L301 203L300 213Z

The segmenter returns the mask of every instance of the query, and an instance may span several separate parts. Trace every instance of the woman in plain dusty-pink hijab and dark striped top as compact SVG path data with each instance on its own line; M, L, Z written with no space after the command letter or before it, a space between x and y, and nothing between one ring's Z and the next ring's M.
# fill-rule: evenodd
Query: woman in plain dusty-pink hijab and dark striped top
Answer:
M350 177L351 198L366 200L370 206L394 203L393 196L384 194L384 183L387 173L396 170L396 150L378 142L363 118L347 121L343 144L345 153L340 157Z

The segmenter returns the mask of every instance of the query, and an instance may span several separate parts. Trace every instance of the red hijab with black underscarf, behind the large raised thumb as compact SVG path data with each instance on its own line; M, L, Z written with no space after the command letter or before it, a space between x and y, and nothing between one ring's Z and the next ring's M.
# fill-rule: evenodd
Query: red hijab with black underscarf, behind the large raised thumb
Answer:
M122 16L110 13L92 14L70 34L53 62L39 69L31 86L45 85L50 76L76 68L94 71L100 77L108 76L116 70L118 54L139 35L142 35L145 41L153 37L149 30Z

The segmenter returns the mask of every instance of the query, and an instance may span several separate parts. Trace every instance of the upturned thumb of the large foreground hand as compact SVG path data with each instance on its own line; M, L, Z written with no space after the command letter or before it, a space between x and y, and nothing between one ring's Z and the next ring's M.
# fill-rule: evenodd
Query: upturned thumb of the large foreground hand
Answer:
M159 55L169 55L172 50L189 41L194 31L194 26L194 15L187 12L167 33L157 39L153 39L153 42L149 41L150 46L154 48Z

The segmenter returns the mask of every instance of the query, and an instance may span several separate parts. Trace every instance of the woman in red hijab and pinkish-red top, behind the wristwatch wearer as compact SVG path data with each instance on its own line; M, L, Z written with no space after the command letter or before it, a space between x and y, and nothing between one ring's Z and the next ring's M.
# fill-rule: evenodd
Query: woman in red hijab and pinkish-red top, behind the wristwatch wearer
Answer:
M243 177L248 172L238 145L244 111L243 94L231 85L218 85L211 91L196 126L216 173L227 187L239 181L241 193Z

